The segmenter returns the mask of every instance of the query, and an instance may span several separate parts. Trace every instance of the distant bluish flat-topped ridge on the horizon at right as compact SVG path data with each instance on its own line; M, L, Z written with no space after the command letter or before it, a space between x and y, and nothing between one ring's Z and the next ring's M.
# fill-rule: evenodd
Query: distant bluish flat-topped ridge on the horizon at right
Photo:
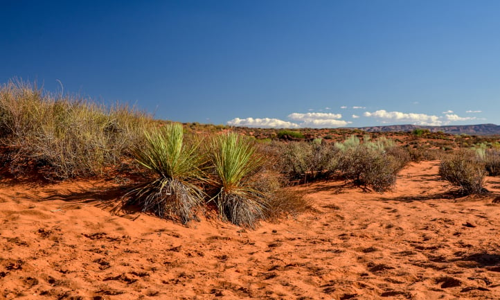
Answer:
M430 132L445 132L449 134L493 135L500 134L500 126L494 124L479 125L448 125L448 126L421 126L421 125L388 125L372 127L351 127L348 129L364 130L366 132L411 132L416 129L427 129Z

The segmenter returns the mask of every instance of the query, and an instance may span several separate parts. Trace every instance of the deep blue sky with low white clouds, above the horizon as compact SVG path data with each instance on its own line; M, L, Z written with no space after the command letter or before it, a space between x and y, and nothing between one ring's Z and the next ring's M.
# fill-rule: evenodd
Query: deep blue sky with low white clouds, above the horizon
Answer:
M500 1L1 1L0 82L257 127L500 123Z

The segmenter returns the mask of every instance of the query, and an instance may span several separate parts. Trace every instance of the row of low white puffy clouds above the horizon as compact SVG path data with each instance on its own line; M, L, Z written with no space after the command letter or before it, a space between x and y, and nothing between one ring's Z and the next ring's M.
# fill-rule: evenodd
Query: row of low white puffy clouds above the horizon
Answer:
M341 109L348 109L347 106L341 106ZM353 106L352 109L366 109L366 107ZM325 109L330 109L327 107ZM323 110L323 109L320 109ZM467 114L479 114L481 110L467 110ZM359 118L373 118L378 124L413 124L413 125L428 125L428 126L441 126L452 125L456 122L485 120L476 116L459 116L449 109L438 116L436 114L422 114L422 113L407 113L407 112L388 112L385 109L379 109L375 112L365 111L363 114L352 114L351 120L343 118L342 114L325 113L325 112L307 112L299 113L293 112L287 116L288 121L279 118L233 118L227 121L227 125L241 126L241 127L260 127L260 128L335 128L353 126L353 121Z

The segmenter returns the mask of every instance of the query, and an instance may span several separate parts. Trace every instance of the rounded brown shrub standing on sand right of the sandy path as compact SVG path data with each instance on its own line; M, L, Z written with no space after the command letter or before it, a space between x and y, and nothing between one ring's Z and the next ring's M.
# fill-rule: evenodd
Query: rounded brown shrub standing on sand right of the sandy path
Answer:
M463 195L480 194L485 191L485 163L474 151L461 150L444 157L439 165L439 175Z

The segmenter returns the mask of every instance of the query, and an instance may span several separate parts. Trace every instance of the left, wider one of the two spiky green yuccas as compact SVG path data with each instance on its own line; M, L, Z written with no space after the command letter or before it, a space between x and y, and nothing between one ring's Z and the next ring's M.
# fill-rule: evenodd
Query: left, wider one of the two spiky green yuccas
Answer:
M204 197L195 184L202 178L204 157L196 144L184 141L179 123L145 136L145 148L135 150L134 156L158 177L133 188L125 199L128 204L139 204L143 211L154 211L161 218L179 218L186 224L196 218L194 209Z

